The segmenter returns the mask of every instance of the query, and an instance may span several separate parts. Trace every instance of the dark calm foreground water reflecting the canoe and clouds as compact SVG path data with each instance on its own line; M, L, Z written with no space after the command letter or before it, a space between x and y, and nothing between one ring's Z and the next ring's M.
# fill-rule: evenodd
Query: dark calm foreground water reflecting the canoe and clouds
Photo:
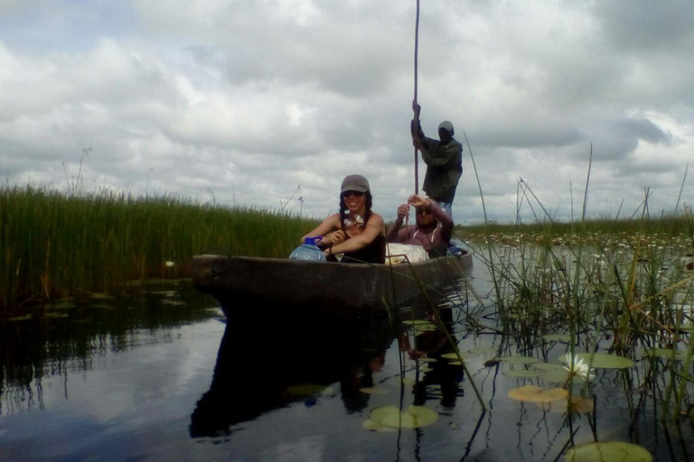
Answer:
M512 388L539 381L505 375L521 366L485 365L518 346L469 331L458 308L441 316L461 351L475 352L467 365L486 412L461 366L410 358L451 351L440 328L415 334L387 319L278 326L261 307L247 311L259 316L225 323L214 300L182 283L5 321L0 460L536 461L554 460L571 430L577 443L631 441L656 460L694 450L689 420L661 425L651 391L625 392L622 372L597 372L596 412L570 429L564 411L511 400ZM557 344L547 357L565 350ZM360 392L374 386L388 394ZM439 420L362 428L371 410L391 404L424 405Z

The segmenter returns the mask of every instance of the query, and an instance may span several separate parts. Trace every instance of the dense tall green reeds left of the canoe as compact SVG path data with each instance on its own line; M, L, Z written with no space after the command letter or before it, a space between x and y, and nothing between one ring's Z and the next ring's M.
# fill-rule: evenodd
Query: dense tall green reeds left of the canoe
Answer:
M0 312L185 277L192 255L283 257L314 220L177 197L0 189Z

